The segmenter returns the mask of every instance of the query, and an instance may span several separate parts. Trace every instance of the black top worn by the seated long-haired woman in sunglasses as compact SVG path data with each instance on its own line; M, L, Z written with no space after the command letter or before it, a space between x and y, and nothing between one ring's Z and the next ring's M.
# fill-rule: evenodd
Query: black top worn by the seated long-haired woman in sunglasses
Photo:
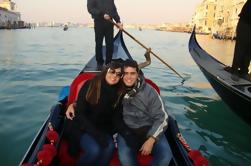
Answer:
M112 119L118 86L110 86L106 81L102 81L99 102L91 105L85 98L89 84L87 81L79 92L75 118L66 122L65 137L69 141L72 155L79 150L80 137L83 133L90 134L103 147L106 146L106 136L114 133Z

